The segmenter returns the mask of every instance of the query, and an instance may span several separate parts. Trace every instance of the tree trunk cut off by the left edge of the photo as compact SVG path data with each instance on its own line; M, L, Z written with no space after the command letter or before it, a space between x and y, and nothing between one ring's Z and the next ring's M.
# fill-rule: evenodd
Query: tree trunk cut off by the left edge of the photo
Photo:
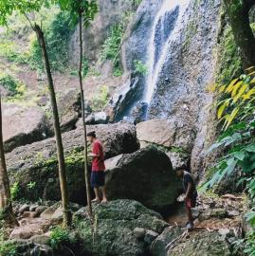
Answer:
M2 216L7 221L9 225L18 225L15 219L11 195L9 189L9 176L7 173L6 158L4 152L4 142L3 142L3 125L2 125L2 103L0 94L0 210L2 211Z

